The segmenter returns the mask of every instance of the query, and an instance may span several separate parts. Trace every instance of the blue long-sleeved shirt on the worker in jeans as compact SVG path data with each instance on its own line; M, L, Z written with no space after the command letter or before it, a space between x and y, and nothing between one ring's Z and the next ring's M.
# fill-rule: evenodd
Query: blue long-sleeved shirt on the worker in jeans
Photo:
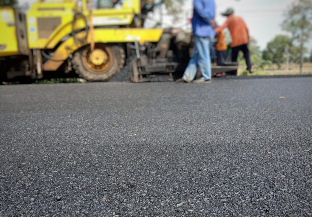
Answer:
M199 37L213 36L215 33L210 21L215 17L216 5L214 0L194 0L193 5L193 33Z

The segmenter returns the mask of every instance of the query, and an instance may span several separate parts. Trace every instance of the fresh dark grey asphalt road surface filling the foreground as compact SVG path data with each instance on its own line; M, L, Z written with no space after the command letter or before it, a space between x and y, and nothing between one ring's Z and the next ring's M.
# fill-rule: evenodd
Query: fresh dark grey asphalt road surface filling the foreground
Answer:
M0 216L311 216L312 78L0 86Z

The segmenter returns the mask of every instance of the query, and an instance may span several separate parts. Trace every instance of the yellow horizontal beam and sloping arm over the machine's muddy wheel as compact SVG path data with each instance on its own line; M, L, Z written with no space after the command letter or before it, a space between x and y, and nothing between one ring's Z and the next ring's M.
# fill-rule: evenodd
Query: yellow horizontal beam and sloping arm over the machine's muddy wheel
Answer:
M119 29L95 29L94 41L95 43L127 43L139 41L144 42L158 42L163 29L144 29L144 28L119 28ZM44 71L57 70L64 61L69 57L70 53L74 53L78 48L90 43L90 36L84 44L75 43L73 37L70 37L63 42L54 53L54 60L48 60L43 65Z

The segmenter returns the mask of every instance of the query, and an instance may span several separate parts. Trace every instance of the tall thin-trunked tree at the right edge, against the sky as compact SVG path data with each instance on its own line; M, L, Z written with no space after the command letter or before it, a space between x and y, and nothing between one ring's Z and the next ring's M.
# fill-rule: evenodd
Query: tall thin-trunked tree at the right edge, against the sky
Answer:
M300 73L304 59L304 44L312 34L312 1L297 0L285 14L282 24L284 30L292 33L293 38L300 44Z

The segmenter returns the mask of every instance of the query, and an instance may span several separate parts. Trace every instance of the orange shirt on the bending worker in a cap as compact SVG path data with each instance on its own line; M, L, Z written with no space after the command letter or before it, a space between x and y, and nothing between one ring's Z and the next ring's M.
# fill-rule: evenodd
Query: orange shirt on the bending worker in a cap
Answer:
M249 43L248 28L241 17L233 14L228 16L227 21L221 27L216 28L215 31L221 32L226 27L231 33L232 48Z

